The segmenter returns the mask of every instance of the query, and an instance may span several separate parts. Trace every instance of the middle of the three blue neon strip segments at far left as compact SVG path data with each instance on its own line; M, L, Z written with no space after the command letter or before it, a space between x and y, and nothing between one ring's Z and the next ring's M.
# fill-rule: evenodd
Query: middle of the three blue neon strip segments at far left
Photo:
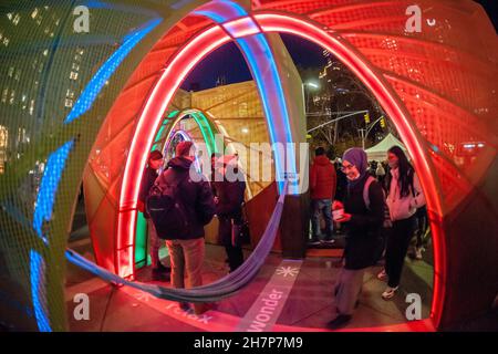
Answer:
M52 217L53 205L55 201L55 192L64 170L68 156L73 148L74 142L70 140L62 145L56 152L49 156L43 177L40 183L40 189L37 197L37 206L33 215L33 228L38 236L45 241L42 231L43 220L50 220Z

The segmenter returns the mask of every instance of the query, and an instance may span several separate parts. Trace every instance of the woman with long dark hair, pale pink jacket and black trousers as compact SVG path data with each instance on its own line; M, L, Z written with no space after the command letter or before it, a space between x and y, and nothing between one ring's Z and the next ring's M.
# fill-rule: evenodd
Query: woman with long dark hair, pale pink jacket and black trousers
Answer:
M387 238L385 269L377 275L387 280L387 288L382 293L384 300L392 299L400 287L406 252L416 228L415 214L425 205L418 177L401 147L390 148L387 160L391 171L386 181L386 202L393 228Z

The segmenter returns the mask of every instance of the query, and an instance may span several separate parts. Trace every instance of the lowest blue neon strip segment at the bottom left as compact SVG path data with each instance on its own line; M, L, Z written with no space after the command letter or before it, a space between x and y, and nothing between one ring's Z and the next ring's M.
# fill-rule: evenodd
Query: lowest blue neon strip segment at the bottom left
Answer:
M30 280L31 298L33 300L34 317L40 332L52 332L49 316L46 314L45 294L45 261L34 250L30 251Z

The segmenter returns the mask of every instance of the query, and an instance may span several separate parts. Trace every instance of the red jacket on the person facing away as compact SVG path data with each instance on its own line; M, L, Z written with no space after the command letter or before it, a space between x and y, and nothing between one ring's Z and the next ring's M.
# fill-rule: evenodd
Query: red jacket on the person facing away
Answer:
M338 177L335 168L325 155L317 156L311 165L311 199L333 199Z

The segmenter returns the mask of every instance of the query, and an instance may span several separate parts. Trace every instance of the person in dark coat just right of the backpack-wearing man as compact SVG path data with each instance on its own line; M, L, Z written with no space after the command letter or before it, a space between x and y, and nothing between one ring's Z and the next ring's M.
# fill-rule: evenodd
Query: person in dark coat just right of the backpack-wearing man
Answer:
M221 156L218 170L222 180L215 180L216 215L219 220L218 239L225 246L230 272L243 263L243 252L240 246L234 244L234 225L242 223L242 202L246 183L237 168L236 156Z

